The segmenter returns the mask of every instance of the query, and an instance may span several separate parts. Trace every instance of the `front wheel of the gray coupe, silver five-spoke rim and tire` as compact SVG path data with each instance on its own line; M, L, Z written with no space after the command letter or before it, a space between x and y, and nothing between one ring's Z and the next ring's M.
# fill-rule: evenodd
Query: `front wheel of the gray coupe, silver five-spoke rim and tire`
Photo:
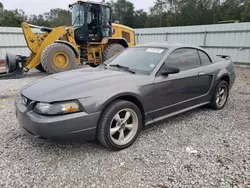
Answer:
M128 101L117 100L104 110L97 128L97 140L110 150L131 146L142 127L139 108Z

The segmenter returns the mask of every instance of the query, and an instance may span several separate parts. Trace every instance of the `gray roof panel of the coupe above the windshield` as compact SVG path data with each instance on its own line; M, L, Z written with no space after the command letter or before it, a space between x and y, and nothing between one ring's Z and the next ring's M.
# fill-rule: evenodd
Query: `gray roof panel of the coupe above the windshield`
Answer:
M167 49L197 48L197 49L204 50L199 46L194 46L194 45L190 45L190 44L181 44L181 43L170 43L170 42L139 44L139 45L136 45L136 47L154 47L154 48L167 48Z

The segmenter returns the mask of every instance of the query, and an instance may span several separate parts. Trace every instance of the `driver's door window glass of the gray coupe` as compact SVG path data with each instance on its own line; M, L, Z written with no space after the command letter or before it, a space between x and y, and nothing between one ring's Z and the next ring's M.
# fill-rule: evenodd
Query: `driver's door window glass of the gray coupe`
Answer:
M181 71L201 66L196 49L181 48L173 51L165 61L166 67L176 67Z

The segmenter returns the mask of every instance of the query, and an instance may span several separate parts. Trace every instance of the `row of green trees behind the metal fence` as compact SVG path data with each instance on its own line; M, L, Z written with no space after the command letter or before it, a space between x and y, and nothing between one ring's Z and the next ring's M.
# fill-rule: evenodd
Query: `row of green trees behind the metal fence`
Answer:
M250 0L154 0L149 13L135 10L129 0L111 0L113 21L132 28L216 24L224 20L250 21ZM21 23L56 27L71 24L71 13L51 9L27 16L22 10L6 10L0 2L0 26L20 27Z

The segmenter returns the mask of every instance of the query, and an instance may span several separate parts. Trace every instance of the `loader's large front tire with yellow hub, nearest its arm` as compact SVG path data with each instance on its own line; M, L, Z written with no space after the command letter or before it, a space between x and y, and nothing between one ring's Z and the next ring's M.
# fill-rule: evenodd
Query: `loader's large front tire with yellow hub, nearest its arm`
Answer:
M76 57L67 45L54 43L43 50L41 64L47 73L55 74L75 69Z

